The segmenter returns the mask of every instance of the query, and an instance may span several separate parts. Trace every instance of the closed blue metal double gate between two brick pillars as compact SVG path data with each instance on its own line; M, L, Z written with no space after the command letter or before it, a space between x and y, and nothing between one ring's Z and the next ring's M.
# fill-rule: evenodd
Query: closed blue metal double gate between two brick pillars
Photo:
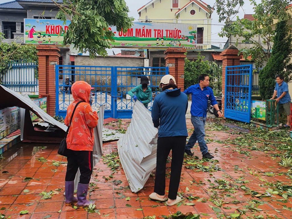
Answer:
M159 92L161 77L168 74L168 67L112 67L56 65L56 115L65 117L73 101L71 81L86 81L92 89L92 106L105 105L104 117L126 119L132 117L134 102L128 91L140 84L141 76L149 78L153 96ZM148 109L152 109L153 100Z

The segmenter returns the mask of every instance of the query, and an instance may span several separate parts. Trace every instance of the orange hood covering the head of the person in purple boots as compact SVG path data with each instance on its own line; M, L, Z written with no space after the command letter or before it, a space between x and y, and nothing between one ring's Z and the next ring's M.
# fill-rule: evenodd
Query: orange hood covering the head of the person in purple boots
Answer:
M86 81L76 81L72 84L71 92L74 100L84 101L89 103L89 94L91 86Z

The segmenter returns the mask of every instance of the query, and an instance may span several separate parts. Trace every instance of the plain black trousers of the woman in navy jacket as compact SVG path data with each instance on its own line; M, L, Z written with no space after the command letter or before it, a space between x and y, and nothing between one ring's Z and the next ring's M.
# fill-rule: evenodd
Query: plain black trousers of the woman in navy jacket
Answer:
M174 136L158 138L157 157L154 192L159 195L165 194L165 171L166 159L172 150L171 175L169 182L169 199L176 199L178 186L180 185L180 174L183 166L183 157L185 154L186 136Z

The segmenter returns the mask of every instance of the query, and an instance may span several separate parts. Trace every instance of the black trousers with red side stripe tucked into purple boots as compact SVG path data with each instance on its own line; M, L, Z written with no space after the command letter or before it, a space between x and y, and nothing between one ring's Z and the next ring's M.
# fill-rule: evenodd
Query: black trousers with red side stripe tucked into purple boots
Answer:
M93 170L92 151L70 150L67 161L65 181L73 181L79 168L81 174L79 183L88 184Z

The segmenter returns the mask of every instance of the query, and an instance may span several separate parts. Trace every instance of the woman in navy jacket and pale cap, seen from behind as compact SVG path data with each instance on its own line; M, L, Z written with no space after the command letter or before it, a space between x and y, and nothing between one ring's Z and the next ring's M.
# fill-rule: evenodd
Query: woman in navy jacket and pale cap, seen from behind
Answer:
M166 202L167 205L172 206L181 201L177 192L188 136L185 121L188 102L187 95L180 92L180 88L171 75L161 78L159 88L163 92L155 97L151 112L154 127L158 128L158 140L154 192L149 197L157 201L167 200L165 197L166 160L172 150L171 177Z

